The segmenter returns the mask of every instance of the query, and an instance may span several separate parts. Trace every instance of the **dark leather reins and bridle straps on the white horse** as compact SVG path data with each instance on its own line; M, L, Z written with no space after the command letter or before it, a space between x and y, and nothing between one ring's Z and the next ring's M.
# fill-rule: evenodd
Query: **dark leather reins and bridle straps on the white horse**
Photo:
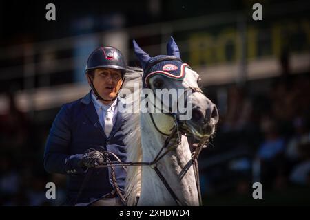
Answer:
M185 94L185 92L187 92L189 90L191 90L192 93L194 93L194 92L203 93L203 91L199 87L189 87L188 86L187 88L185 88L185 91L183 92L183 95ZM151 162L121 162L121 159L119 159L117 157L117 155L115 155L114 153L109 152L109 151L101 151L103 153L104 162L99 164L98 166L96 166L96 168L108 168L108 167L110 167L111 176L112 176L111 184L114 186L114 189L115 189L118 197L121 199L121 201L124 203L124 205L126 205L126 199L123 196L123 194L121 192L121 189L118 187L118 184L116 183L116 176L115 176L115 171L114 171L114 167L118 167L118 166L123 167L124 170L127 170L127 166L149 166L150 168L152 168L155 171L156 175L158 175L158 177L161 179L161 181L165 185L165 188L167 188L169 194L172 196L174 201L176 201L178 206L185 206L185 204L182 201L180 201L180 199L178 199L178 197L177 197L176 193L174 192L174 190L172 190L171 186L169 186L167 180L165 179L165 177L163 176L161 171L157 168L157 163L165 155L167 155L167 153L169 153L170 151L176 149L178 147L178 145L180 145L180 143L181 143L181 136L182 135L186 135L185 133L182 133L180 131L180 128L179 128L180 121L178 120L177 115L175 113L172 113L172 112L168 112L168 113L165 113L165 114L169 115L174 120L174 126L171 129L172 132L170 134L163 133L163 131L158 129L158 126L156 126L156 123L154 122L154 118L152 116L152 113L149 113L150 118L152 120L152 123L154 124L154 127L156 128L156 130L159 133L161 133L162 135L166 135L167 136L163 146L161 147L161 149L158 151L158 153L156 154L156 156L154 157L154 159ZM176 140L176 142L170 143L172 140ZM201 192L200 192L200 182L199 182L198 161L197 161L197 159L198 159L198 156L200 155L200 152L202 151L202 149L204 148L204 146L205 146L205 144L207 143L208 140L209 140L209 137L204 137L203 139L200 140L200 142L198 143L198 146L196 146L195 150L192 152L191 159L189 159L187 164L184 166L184 168L181 170L181 172L178 175L179 179L183 179L183 177L185 176L185 174L187 173L189 168L192 165L194 165L193 166L193 168L194 168L194 175L195 175L195 179L196 179L196 187L197 187L197 190L198 190L198 199L199 199L200 206L202 205L202 198L201 198ZM109 156L114 157L116 160L112 161L109 158ZM80 188L79 194L81 194L81 190L83 190L83 185L84 184L82 184L82 186Z

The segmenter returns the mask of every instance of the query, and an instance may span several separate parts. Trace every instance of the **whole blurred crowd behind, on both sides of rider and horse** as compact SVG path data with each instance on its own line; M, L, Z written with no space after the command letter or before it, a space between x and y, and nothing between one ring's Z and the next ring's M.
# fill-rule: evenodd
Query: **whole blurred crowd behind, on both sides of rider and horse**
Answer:
M310 185L310 74L292 75L284 68L281 76L256 85L265 89L227 86L225 111L219 109L212 146L200 159L237 154L213 166L201 164L203 193L245 192L256 180L271 190ZM8 98L10 109L0 115L0 206L59 205L65 176L43 170L53 118L43 129L17 109L14 94ZM49 181L56 184L56 199L45 197Z

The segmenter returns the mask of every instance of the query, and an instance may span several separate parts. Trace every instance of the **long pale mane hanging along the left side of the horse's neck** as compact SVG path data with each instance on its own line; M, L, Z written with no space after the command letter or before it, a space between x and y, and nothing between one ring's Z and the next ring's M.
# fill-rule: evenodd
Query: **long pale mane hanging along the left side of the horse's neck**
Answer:
M123 83L124 89L130 89L132 96L124 97L126 104L132 109L138 104L140 109L140 92L142 88L143 70L137 67L128 67ZM134 85L139 85L139 89L134 91ZM124 143L127 150L128 162L142 161L141 130L140 130L140 111L134 113L124 113L126 123L123 125L125 133ZM127 166L127 177L125 186L125 197L127 206L136 205L137 197L141 192L141 166Z

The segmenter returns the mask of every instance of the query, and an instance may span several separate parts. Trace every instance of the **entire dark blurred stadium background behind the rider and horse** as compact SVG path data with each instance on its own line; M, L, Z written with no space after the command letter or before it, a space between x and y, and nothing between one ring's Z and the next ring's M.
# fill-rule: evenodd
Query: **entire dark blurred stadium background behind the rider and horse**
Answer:
M156 56L171 35L220 112L199 158L203 204L309 205L309 14L309 1L0 1L0 205L64 199L65 176L43 169L45 140L61 104L89 91L95 47L138 66L132 39ZM45 198L49 181L56 199ZM263 199L252 198L256 181Z

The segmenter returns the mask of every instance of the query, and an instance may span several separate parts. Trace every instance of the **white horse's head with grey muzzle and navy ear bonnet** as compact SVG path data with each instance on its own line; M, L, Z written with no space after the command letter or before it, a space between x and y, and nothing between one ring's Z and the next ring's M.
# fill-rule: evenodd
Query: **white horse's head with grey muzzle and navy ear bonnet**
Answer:
M138 46L136 41L134 41L134 52L143 67L144 89L152 89L156 98L159 98L156 89L176 91L177 98L168 96L169 98L163 99L162 94L160 98L167 103L164 104L161 101L161 107L166 106L169 109L166 115L172 114L179 119L180 130L187 135L193 135L198 140L212 135L218 122L218 110L198 87L199 75L180 59L180 51L174 39L171 37L167 43L167 56L151 57ZM180 103L186 107L185 112L179 111ZM172 113L172 109L176 111ZM181 116L185 118L185 114L190 117L182 120Z

